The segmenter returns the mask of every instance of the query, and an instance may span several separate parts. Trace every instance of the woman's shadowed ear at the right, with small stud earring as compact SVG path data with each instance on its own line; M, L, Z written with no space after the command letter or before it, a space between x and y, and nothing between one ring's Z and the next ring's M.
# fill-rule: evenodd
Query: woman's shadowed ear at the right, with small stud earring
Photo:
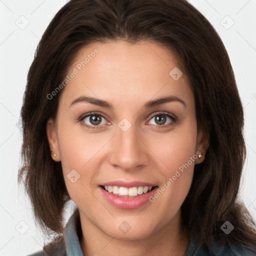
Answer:
M195 159L195 164L201 163L205 158L205 153L209 147L209 130L199 129L196 137L196 154L201 153L201 157Z

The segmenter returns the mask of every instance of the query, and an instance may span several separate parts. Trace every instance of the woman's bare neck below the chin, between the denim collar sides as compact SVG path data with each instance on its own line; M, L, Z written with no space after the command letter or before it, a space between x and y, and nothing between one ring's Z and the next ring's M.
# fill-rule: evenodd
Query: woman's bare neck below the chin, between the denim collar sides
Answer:
M84 256L183 256L189 243L188 236L181 228L180 214L149 236L137 239L134 234L132 240L117 239L114 235L107 235L82 213L80 220L82 229L80 244Z

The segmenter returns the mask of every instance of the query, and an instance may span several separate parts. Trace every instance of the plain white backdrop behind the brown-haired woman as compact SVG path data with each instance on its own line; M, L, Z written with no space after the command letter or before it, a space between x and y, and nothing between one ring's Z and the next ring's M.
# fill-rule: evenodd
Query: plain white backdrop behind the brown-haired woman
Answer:
M247 158L240 198L256 217L256 0L190 0L224 42L244 107ZM66 0L0 0L0 256L40 250L44 236L17 185L19 114L28 68L48 23ZM199 42L198 42L199 43ZM68 206L66 219L72 211Z

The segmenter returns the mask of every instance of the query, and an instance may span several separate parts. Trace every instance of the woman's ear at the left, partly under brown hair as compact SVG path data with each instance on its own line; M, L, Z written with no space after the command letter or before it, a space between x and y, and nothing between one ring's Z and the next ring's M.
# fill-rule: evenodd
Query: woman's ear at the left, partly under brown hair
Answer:
M56 124L55 120L52 118L48 119L46 123L46 133L49 142L51 158L58 162L60 161L59 149L58 149L58 141L57 141L57 134L56 134Z

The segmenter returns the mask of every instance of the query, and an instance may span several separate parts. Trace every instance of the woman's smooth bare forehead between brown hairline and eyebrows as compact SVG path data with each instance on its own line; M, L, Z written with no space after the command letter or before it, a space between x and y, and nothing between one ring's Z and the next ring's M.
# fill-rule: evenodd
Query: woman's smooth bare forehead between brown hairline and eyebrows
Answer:
M96 96L121 106L122 101L139 105L171 94L193 105L188 79L179 68L175 55L155 42L96 42L77 53L67 72L75 75L61 97L71 102L81 95Z

